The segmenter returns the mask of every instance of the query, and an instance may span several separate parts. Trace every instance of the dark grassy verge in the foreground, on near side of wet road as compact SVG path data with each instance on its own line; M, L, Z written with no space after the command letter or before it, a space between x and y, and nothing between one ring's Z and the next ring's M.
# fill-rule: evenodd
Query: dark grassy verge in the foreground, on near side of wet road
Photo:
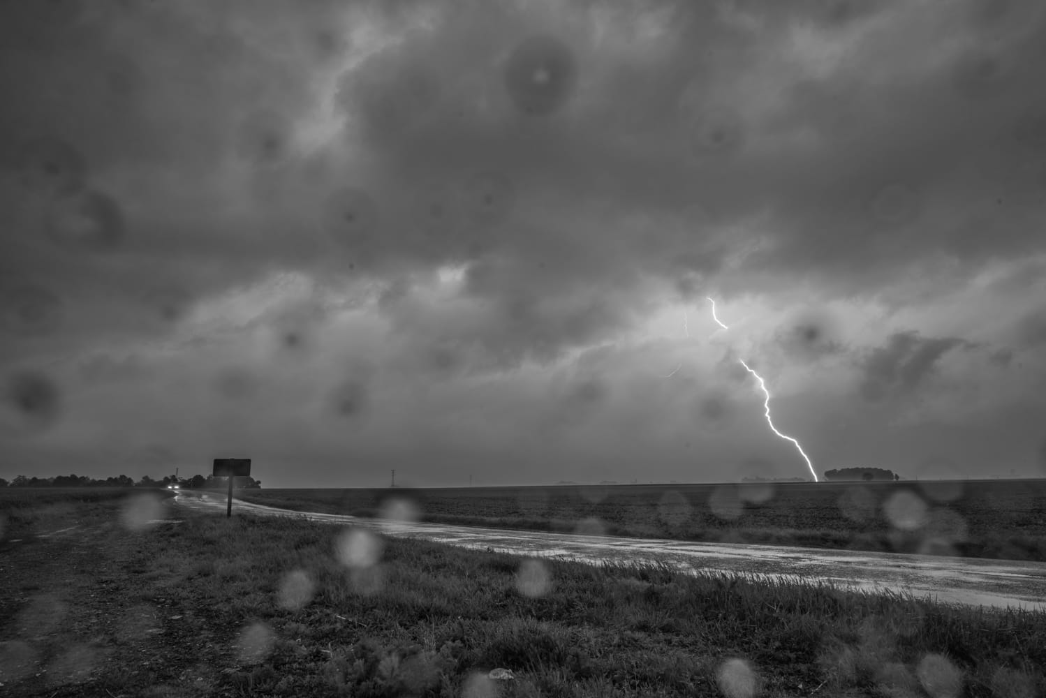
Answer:
M595 567L150 499L0 543L0 693L1018 696L1046 613ZM49 506L49 505L41 505ZM129 512L131 512L129 514ZM155 519L150 519L155 520ZM175 522L179 521L179 522ZM486 678L495 668L515 679Z

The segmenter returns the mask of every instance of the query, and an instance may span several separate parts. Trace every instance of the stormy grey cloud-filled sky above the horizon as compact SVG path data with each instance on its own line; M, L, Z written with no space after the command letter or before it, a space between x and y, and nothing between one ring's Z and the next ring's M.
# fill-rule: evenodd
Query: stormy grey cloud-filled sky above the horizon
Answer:
M1042 3L0 14L0 476L1046 474Z

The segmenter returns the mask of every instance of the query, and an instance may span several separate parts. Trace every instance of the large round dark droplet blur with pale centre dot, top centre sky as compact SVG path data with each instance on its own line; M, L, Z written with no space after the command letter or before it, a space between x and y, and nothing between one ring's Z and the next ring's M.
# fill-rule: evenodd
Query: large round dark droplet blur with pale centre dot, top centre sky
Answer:
M573 52L559 39L539 34L521 42L504 67L504 84L518 110L548 116L560 110L574 91L577 65Z

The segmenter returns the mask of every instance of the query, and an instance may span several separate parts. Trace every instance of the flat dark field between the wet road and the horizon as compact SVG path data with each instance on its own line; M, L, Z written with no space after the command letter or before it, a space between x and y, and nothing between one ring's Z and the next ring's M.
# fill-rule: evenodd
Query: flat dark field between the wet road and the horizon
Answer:
M1046 480L753 483L447 489L240 490L297 511L420 520L1046 560Z

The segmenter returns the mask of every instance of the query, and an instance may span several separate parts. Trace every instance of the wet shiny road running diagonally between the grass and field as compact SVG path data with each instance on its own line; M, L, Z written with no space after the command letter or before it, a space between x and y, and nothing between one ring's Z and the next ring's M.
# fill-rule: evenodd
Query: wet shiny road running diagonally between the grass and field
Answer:
M225 513L224 496L179 494L181 506ZM939 602L997 608L1046 610L1046 562L984 560L896 553L699 543L653 538L585 536L545 531L506 531L441 524L408 524L276 509L233 498L233 515L302 516L309 520L356 526L402 538L419 538L462 548L493 549L514 555L583 562L665 562L685 572L724 572L756 578L828 582L868 591L901 591Z

